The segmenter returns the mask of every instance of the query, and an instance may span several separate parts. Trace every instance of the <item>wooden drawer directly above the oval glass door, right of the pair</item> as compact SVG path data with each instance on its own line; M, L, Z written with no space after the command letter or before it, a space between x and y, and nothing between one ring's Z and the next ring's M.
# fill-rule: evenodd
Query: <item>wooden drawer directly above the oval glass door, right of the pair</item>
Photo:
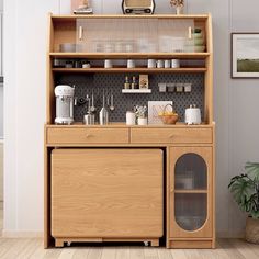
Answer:
M210 144L212 128L132 128L131 143Z

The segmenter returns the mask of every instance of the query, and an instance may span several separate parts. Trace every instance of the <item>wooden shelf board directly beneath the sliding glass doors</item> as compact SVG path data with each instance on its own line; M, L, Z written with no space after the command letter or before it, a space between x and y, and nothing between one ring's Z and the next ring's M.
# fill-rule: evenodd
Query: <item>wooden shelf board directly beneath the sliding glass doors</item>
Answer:
M179 58L179 59L203 59L210 53L49 53L56 58L88 58L88 59L148 59L148 58Z

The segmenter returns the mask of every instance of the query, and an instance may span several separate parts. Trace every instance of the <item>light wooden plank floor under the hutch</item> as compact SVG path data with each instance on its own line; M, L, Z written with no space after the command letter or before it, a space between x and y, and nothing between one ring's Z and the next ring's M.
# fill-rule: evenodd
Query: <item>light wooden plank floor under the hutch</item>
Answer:
M0 204L0 234L2 228ZM216 249L166 249L134 246L43 249L42 239L3 238L0 259L258 259L259 245L241 239L218 239Z

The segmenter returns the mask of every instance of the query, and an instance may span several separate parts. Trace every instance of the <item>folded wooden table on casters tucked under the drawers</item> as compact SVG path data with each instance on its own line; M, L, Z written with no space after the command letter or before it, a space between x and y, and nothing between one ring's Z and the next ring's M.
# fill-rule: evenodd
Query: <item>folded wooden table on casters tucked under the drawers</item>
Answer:
M161 149L52 151L52 236L64 240L164 235Z

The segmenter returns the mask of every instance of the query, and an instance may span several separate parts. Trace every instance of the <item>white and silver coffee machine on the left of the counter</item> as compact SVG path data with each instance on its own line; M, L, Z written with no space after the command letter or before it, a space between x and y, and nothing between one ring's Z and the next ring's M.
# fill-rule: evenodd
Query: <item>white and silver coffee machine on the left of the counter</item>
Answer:
M55 88L56 95L56 124L74 123L75 88L60 85Z

